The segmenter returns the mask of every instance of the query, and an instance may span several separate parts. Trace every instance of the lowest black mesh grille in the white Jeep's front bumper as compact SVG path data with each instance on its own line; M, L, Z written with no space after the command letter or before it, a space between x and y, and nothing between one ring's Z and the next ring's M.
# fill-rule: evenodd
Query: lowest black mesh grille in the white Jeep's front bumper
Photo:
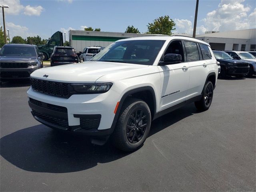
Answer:
M42 113L39 113L37 111L34 111L32 110L32 114L50 124L54 124L54 125L57 125L57 126L60 126L60 127L64 127L66 129L69 128L68 126L68 119L60 119L60 118L56 118L56 117L52 117L52 116L49 116L47 114L42 114Z

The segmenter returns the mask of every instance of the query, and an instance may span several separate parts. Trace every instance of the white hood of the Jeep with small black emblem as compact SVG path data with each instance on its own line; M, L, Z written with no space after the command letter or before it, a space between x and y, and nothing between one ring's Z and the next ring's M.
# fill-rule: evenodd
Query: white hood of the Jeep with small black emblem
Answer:
M148 65L114 63L114 62L83 62L61 66L47 67L34 71L30 76L58 82L94 83L104 75L134 74ZM45 75L45 76L44 76ZM47 76L47 77L46 77ZM110 82L112 79L109 80Z

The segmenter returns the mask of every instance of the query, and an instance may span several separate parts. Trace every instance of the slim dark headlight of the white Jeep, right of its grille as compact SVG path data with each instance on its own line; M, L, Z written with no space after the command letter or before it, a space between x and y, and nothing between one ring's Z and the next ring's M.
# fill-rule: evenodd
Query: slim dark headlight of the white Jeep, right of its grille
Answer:
M76 92L79 93L105 93L110 90L112 83L100 83L100 84L71 84Z

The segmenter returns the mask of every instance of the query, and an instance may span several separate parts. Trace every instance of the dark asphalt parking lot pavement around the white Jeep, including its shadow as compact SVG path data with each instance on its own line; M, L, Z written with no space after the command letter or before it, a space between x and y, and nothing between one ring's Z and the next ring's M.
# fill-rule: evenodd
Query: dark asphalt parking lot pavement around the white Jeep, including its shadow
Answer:
M0 88L0 191L255 191L256 79L218 80L210 109L152 122L144 146L56 132L32 117L28 81Z

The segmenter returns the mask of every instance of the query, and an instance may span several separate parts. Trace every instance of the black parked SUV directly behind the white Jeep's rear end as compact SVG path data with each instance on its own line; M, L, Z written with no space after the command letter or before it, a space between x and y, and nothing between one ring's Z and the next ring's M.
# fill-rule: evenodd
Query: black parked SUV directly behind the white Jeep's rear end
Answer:
M212 51L216 60L220 62L220 78L226 76L242 77L249 73L249 63L243 60L233 59L229 54L223 51Z

